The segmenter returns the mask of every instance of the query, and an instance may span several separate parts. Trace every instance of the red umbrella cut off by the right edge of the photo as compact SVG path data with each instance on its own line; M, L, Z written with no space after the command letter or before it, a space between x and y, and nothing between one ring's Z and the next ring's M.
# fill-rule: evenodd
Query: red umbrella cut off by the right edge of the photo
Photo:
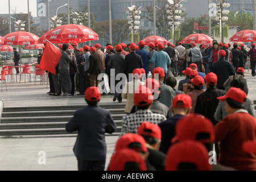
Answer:
M254 42L256 40L256 31L255 30L242 30L237 32L229 39L230 42Z

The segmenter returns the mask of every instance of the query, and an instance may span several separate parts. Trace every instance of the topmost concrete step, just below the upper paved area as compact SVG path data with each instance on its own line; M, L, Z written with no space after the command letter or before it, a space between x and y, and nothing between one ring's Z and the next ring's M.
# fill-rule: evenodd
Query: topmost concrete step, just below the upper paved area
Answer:
M113 114L125 114L124 109L108 109ZM3 118L10 117L43 117L43 116L64 116L74 115L76 110L47 110L47 111L10 111L2 113Z

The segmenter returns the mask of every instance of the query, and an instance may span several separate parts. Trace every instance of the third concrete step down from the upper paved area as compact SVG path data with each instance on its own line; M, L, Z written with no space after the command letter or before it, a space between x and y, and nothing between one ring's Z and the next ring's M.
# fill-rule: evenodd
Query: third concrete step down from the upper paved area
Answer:
M67 122L35 122L35 123L1 123L1 130L22 130L22 129L53 129L65 128ZM115 121L117 127L122 125L122 120Z

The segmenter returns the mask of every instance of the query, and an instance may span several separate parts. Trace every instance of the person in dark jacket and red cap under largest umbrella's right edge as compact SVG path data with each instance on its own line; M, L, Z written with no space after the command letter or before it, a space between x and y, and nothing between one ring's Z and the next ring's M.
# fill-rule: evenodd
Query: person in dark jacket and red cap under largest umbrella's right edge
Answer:
M101 57L96 53L96 48L90 48L89 56L89 71L88 76L90 76L90 86L98 86L98 75L101 73Z

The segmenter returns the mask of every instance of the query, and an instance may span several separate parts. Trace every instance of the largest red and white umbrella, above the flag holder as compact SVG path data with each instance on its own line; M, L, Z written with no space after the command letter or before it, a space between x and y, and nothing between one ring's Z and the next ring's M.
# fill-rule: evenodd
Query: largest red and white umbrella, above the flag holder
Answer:
M79 43L89 40L98 40L98 34L80 24L64 24L48 31L44 38L52 43Z

